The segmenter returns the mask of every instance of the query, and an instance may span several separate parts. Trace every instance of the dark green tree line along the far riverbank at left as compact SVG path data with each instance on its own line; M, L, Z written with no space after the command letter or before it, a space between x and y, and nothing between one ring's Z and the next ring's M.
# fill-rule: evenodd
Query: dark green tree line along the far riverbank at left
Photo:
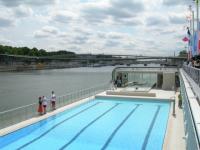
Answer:
M12 47L12 46L4 46L0 45L0 54L8 54L8 55L24 55L24 56L37 56L37 57L44 57L44 56L75 56L74 52L69 52L65 50L60 51L52 51L47 52L44 49L37 49L37 48L28 48L28 47Z

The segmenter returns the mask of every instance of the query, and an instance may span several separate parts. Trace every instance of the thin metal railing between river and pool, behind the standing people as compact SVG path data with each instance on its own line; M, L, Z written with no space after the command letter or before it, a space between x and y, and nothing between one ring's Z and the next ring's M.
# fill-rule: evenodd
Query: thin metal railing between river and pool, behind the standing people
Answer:
M74 103L90 96L94 96L100 92L108 90L109 88L110 83L106 83L88 89L79 90L77 92L69 93L67 95L59 96L56 99L56 108L63 107L65 105ZM0 129L38 116L37 109L38 103L33 103L30 105L0 112ZM51 111L50 101L47 107L47 112L49 111Z

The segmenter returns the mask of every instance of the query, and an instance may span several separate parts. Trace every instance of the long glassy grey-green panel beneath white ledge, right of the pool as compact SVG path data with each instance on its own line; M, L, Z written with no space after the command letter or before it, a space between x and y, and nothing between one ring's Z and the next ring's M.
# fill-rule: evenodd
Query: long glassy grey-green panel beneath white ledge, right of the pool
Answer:
M196 130L195 121L192 115L187 91L182 76L180 75L181 97L183 101L184 127L186 135L186 149L199 150L200 141Z

